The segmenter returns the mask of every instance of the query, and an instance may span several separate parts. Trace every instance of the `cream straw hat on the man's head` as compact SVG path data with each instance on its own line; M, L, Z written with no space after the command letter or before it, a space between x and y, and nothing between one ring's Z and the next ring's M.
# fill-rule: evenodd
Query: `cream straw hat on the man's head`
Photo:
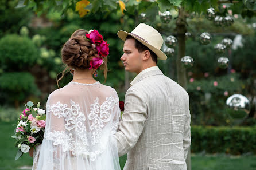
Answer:
M155 30L153 27L146 25L145 23L139 23L137 27L131 32L127 33L126 31L118 31L118 37L125 41L125 38L128 35L131 35L133 38L137 39L143 45L147 46L152 52L156 53L157 58L160 60L166 60L167 56L160 49L162 43L164 42L160 33Z

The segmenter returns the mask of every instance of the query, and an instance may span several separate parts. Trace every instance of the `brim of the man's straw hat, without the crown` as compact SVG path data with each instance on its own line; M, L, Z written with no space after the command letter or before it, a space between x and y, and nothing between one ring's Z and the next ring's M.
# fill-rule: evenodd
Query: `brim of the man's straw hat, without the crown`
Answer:
M166 60L167 56L164 52L162 52L160 49L155 48L154 46L148 44L148 42L143 41L142 39L139 39L138 37L135 37L133 34L127 33L126 31L118 31L117 33L118 37L122 39L122 41L125 42L125 39L128 35L131 35L131 37L137 39L139 42L141 42L143 45L147 46L152 52L154 52L157 55L157 58L159 60Z

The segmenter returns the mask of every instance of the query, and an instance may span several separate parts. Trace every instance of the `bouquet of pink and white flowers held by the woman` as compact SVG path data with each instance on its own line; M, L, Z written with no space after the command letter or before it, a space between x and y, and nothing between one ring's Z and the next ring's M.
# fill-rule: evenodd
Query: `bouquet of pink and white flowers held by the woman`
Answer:
M18 160L23 153L28 153L30 148L41 144L44 138L45 110L39 108L39 102L34 108L31 101L27 102L25 106L26 109L23 110L17 121L15 134L11 136L16 139L14 146L18 148L15 160Z

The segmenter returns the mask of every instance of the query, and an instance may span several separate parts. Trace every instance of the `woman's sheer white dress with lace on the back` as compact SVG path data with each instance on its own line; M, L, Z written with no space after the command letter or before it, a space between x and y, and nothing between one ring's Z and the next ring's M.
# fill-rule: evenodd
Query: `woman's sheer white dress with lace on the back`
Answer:
M110 86L69 82L46 104L44 140L33 170L119 170L113 133L120 118L119 98Z

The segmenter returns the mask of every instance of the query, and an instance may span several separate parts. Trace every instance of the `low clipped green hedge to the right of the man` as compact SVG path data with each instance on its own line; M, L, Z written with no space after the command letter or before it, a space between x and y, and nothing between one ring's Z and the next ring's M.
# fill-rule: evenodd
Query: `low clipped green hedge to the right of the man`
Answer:
M256 153L256 126L212 127L191 126L191 152Z

